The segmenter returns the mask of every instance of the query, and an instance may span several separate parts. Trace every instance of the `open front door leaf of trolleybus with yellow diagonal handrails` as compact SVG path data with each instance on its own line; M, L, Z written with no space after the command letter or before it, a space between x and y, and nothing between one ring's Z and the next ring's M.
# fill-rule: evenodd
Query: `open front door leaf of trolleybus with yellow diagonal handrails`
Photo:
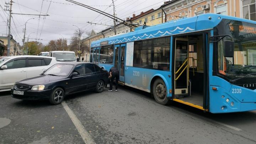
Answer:
M175 39L174 95L188 95L188 39Z

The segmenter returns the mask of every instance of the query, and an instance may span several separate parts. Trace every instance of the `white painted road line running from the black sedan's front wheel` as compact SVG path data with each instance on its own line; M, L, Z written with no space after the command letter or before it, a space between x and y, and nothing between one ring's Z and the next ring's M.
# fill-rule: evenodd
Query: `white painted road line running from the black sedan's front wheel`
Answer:
M74 123L76 129L80 133L82 139L84 140L85 144L96 144L94 140L91 138L90 134L85 130L84 126L82 123L78 120L74 112L68 107L65 101L62 102L62 105L66 112L68 113L70 119Z

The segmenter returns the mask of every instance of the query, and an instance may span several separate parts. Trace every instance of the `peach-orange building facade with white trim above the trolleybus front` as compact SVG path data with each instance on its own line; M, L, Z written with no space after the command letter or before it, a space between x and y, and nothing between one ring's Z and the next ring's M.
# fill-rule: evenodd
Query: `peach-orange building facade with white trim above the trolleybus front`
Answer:
M163 22L204 13L256 20L255 0L172 0L162 5Z

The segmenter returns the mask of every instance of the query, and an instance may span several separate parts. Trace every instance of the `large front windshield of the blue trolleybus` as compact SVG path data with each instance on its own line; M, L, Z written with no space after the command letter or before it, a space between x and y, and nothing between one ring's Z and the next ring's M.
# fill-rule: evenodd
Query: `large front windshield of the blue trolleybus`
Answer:
M217 27L218 35L230 35L217 43L218 71L229 79L237 79L245 75L254 77L256 73L256 24L222 20L224 29ZM222 31L222 32L221 32ZM234 41L234 57L224 56L224 41Z

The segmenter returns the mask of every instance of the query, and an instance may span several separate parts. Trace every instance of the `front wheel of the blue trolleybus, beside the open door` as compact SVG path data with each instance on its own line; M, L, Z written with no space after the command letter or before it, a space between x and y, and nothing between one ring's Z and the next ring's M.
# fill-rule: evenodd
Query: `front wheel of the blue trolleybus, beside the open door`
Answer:
M153 95L159 104L167 105L170 100L167 99L167 89L164 81L160 78L156 79L153 84Z

